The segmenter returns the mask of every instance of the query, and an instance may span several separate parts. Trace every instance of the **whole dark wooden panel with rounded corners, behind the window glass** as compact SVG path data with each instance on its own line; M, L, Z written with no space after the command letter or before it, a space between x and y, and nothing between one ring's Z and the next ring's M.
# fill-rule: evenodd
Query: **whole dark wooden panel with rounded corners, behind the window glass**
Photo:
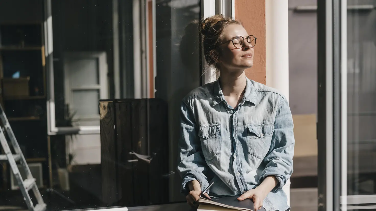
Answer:
M116 197L120 198L117 205L123 206L168 202L167 105L163 100L101 101L101 139L102 191L107 204L115 205Z

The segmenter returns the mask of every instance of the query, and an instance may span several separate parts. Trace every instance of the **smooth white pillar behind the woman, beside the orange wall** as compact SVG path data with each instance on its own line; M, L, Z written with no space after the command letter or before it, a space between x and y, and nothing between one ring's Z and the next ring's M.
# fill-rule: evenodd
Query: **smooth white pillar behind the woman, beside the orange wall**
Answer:
M288 101L288 1L265 1L266 84L279 90ZM290 180L282 190L290 205Z

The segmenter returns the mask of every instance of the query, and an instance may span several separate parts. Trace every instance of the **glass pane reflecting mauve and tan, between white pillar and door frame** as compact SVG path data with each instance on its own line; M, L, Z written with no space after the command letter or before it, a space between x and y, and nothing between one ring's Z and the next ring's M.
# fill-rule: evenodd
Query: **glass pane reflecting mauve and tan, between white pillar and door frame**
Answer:
M317 0L288 0L289 104L294 121L291 210L317 210Z

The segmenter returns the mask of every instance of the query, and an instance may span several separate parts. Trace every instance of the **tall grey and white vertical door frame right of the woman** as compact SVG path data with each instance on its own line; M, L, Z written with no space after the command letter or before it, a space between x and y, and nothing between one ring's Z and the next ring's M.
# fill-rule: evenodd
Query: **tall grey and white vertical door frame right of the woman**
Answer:
M347 210L347 1L318 1L318 210Z

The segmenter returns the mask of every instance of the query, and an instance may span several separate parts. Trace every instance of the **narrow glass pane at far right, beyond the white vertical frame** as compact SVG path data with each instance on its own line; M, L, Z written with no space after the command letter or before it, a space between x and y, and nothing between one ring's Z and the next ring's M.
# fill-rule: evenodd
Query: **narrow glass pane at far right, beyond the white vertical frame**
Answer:
M376 1L347 4L347 194L375 194Z

